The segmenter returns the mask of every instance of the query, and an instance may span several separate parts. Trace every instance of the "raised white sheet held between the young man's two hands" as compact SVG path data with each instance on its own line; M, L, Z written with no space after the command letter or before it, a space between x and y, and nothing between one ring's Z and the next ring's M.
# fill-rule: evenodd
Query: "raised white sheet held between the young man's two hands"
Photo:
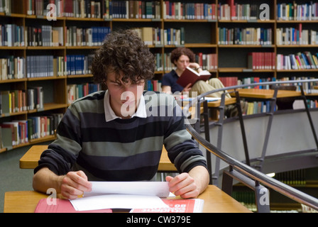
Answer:
M169 196L168 182L91 182L92 192L84 196L101 194L140 194L148 196Z

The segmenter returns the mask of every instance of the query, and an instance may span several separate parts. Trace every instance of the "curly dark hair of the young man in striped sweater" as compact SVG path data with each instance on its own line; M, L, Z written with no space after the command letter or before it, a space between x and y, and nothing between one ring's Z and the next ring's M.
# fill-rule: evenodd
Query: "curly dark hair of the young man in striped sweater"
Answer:
M92 60L94 82L105 85L107 74L115 72L119 81L123 72L124 83L132 84L153 78L155 72L155 56L138 33L133 30L112 31L104 40L101 48L95 51Z

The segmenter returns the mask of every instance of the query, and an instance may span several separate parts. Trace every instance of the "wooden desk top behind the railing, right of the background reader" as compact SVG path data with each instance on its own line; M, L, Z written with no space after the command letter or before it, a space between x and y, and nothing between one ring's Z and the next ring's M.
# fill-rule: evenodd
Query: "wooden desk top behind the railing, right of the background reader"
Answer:
M237 89L238 94L244 98L271 99L274 95L273 89ZM300 92L278 90L277 98L301 96Z

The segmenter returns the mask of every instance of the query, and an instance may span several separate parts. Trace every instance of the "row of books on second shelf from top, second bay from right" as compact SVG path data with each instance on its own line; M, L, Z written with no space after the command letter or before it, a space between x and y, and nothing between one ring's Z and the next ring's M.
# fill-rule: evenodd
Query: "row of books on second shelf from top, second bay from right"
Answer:
M219 28L219 45L272 45L271 28Z

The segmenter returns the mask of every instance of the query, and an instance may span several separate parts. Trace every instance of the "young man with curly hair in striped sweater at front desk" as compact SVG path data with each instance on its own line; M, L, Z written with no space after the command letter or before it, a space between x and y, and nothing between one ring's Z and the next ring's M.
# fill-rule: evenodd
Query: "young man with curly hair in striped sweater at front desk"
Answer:
M55 188L74 199L92 189L92 180L153 180L165 145L180 172L166 177L170 192L183 198L203 192L209 184L206 160L185 128L180 106L168 94L143 92L154 70L155 58L137 33L107 35L92 62L95 81L107 89L67 109L56 140L34 170L33 188Z

